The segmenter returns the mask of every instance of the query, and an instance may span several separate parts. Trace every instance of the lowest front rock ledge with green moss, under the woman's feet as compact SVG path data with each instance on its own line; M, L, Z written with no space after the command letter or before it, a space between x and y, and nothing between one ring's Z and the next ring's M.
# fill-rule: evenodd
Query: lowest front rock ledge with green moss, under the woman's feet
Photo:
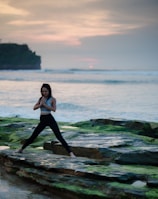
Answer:
M0 162L8 172L30 179L43 185L52 194L69 199L84 198L147 198L149 189L158 187L157 175L138 173L119 164L64 155L55 155L49 151L26 151L23 154L13 150L1 150ZM134 183L139 185L135 186ZM151 188L152 187L152 188Z

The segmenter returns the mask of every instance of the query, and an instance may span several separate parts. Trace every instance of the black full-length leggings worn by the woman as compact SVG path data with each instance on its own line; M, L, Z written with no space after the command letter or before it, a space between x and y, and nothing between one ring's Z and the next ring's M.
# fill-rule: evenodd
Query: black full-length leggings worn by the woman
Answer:
M49 126L52 129L56 138L61 142L61 144L67 150L67 152L70 153L71 149L62 137L58 124L56 123L54 117L51 114L40 116L40 123L37 125L32 135L26 140L26 142L22 146L22 149L26 148L29 144L31 144L35 140L35 138L41 133L41 131L44 130L46 126Z

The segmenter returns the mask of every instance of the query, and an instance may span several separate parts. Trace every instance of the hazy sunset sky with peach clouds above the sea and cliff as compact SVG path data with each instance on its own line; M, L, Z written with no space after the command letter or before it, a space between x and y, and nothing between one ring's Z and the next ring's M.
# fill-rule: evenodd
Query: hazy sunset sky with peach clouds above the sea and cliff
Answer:
M0 0L0 39L42 68L158 70L158 0Z

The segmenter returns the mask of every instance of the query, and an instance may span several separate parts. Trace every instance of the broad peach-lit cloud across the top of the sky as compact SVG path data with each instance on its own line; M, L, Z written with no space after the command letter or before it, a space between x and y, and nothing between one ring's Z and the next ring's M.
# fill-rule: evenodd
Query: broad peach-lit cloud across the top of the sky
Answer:
M140 1L134 0L135 3ZM81 45L82 38L126 34L145 26L145 15L140 17L139 9L134 10L134 5L130 2L10 0L1 4L1 7L5 8L3 13L14 15L4 25L12 30L8 34L10 39ZM21 19L15 15L21 15ZM136 17L138 15L139 20Z

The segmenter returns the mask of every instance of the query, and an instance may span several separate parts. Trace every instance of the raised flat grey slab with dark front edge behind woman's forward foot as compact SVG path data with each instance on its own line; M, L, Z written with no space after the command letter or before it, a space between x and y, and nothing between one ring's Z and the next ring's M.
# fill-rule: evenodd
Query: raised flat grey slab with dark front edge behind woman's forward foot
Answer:
M67 137L66 134L65 137ZM145 143L140 137L119 132L111 135L79 132L76 135L75 132L74 137L73 141L69 141L69 145L77 156L105 159L119 164L158 165L158 147ZM66 155L57 140L45 142L44 149L52 150L55 154Z

